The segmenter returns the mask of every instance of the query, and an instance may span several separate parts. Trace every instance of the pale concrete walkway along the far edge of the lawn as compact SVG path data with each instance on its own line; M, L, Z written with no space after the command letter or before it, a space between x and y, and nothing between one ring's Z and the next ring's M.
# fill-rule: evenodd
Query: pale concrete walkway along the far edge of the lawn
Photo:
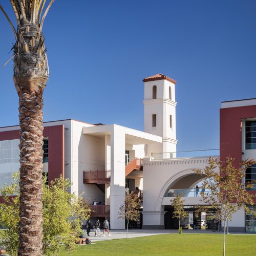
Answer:
M94 231L90 232L90 240L92 242L95 241L103 241L103 240L112 240L112 239L122 239L126 238L126 230L110 230L111 237L109 237L108 233L105 233L105 237L103 237L103 230L100 230L100 237L94 237ZM198 230L188 230L185 229L182 231L183 233L222 233L222 232L212 232L211 230L198 229ZM153 236L154 234L170 234L170 233L178 233L177 229L129 229L128 238L138 238L138 237L147 237Z

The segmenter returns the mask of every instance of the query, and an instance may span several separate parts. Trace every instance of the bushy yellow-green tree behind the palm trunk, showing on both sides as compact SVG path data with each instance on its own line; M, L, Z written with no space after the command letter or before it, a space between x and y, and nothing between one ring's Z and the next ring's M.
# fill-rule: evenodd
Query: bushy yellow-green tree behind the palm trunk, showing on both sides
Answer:
M0 240L12 255L18 251L18 222L19 222L19 186L18 174L14 174L13 184L6 185L0 190L4 202L0 204L0 223L6 228ZM68 193L71 183L62 177L55 179L51 185L43 185L43 233L42 250L44 254L56 255L61 246L68 252L74 250L79 235L82 233L83 219L90 217L90 205L75 194ZM10 196L17 195L17 196Z

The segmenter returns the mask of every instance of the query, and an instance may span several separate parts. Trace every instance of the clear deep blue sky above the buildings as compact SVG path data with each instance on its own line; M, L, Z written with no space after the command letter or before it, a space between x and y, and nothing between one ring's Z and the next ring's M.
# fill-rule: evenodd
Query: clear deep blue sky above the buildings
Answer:
M0 33L2 65L14 42L2 13ZM178 150L219 148L221 101L256 97L254 0L56 0L44 34L45 121L143 131L142 79L163 73L177 81ZM17 124L12 61L0 67L0 86L0 126Z

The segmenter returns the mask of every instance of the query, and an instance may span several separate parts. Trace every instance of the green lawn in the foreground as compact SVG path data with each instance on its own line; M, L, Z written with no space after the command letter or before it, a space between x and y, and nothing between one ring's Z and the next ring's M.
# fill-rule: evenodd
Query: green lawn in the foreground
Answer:
M98 241L77 246L71 255L222 255L223 234L161 234ZM67 255L62 252L60 255ZM229 234L226 255L256 255L256 235Z

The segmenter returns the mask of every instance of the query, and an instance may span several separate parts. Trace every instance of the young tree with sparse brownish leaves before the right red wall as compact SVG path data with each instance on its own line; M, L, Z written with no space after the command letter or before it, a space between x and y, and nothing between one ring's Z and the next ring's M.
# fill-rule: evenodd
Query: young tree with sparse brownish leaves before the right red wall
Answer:
M253 205L253 195L246 189L253 187L251 183L244 183L245 172L248 167L256 163L253 160L243 160L241 166L233 166L233 158L227 158L225 163L212 157L204 170L194 169L196 174L205 175L202 188L210 192L201 192L202 201L216 210L216 217L224 222L223 255L225 255L226 223L232 220L234 212L244 208L249 212L247 205ZM219 170L219 171L218 171ZM201 207L207 211L208 207Z

